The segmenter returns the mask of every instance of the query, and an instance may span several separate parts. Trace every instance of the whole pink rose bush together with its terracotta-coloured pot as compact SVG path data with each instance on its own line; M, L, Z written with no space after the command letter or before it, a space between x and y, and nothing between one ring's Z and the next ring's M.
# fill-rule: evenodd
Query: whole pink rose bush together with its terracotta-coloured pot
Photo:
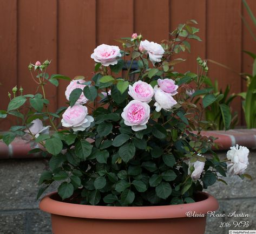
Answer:
M62 181L40 202L40 209L52 214L55 234L202 234L207 211L218 209L216 199L202 190L225 182L226 171L243 177L248 149L232 147L227 160L220 161L212 151L214 137L200 134L208 124L202 119L204 108L216 101L204 88L206 61L198 58L198 74L174 71L183 59L173 54L190 51L189 39L200 40L194 24L180 24L161 45L134 33L118 40L122 51L98 46L91 54L95 75L87 81L49 77L48 60L29 65L42 92L17 95L14 88L1 116L15 115L23 125L12 126L3 140L9 144L19 135L34 147L31 152L52 155L38 197ZM129 59L126 77L119 77ZM138 69L131 72L135 60ZM45 85L57 86L58 79L70 80L65 91L69 106L52 113ZM202 94L202 102L196 102ZM206 152L212 156L205 157Z

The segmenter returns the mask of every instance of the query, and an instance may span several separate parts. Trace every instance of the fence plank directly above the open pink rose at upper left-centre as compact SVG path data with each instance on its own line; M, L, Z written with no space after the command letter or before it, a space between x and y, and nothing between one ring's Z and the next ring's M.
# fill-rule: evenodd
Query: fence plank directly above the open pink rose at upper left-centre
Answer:
M133 0L97 0L97 45L118 45L114 39L133 33Z

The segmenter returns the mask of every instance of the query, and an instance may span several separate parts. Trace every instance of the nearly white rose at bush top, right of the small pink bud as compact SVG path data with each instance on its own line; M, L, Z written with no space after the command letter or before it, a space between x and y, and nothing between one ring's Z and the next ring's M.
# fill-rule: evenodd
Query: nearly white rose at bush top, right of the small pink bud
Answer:
M148 40L143 40L140 43L139 50L141 52L147 51L149 60L152 61L153 65L155 65L156 62L160 62L165 53L165 50L163 50L161 45L155 42L149 42Z

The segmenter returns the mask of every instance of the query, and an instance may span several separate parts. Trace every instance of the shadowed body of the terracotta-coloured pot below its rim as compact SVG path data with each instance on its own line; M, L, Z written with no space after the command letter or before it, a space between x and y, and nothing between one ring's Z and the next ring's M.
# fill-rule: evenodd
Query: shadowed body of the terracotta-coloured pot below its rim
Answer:
M206 217L99 220L51 215L51 219L54 234L204 234L206 225Z

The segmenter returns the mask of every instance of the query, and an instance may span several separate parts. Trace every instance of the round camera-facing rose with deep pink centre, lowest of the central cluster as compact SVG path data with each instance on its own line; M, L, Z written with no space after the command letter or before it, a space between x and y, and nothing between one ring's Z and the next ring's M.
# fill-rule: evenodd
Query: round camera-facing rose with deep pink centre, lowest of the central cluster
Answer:
M124 107L121 114L124 119L124 124L132 126L132 129L137 132L146 129L146 123L149 120L150 107L145 102L133 100Z

